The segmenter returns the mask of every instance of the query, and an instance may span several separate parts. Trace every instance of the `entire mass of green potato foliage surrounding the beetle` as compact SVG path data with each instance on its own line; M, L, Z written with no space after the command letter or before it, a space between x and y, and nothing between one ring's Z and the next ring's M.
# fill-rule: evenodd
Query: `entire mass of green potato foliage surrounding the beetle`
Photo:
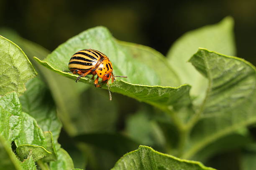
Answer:
M232 18L187 32L167 57L116 40L105 27L86 30L51 53L2 32L28 57L0 37L1 167L213 170L197 161L237 148L250 150L241 170L255 167L255 141L246 127L256 122L256 68L230 56L236 52ZM70 56L85 48L104 52L114 74L128 76L110 84L112 102L106 86L93 87L90 76L75 83L78 75L66 72ZM61 122L70 140L61 139Z

